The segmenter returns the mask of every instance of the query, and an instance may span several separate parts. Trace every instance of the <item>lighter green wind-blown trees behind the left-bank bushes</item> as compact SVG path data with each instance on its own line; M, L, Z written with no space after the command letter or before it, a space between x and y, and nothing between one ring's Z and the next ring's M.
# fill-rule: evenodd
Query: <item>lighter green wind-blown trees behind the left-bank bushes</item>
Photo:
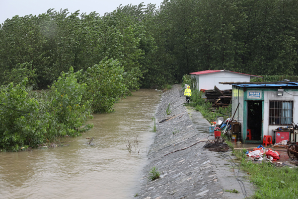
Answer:
M71 66L74 71L85 71L107 57L123 66L124 84L129 90L139 89L143 73L154 79L144 83L145 87L169 83L169 72L162 78L149 74L163 66L155 62L157 46L152 33L147 31L154 24L153 18L140 20L153 13L155 6L144 6L118 7L105 16L49 9L38 16L8 19L0 27L0 71L9 71L17 63L31 62L31 69L36 69L38 87L44 88Z

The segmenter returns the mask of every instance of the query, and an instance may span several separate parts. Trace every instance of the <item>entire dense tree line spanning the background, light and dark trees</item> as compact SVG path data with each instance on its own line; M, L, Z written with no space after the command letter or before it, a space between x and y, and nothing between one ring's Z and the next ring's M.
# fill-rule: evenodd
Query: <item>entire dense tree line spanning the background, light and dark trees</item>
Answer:
M67 9L14 16L0 27L0 70L23 64L43 88L70 66L86 71L112 58L130 90L205 69L293 75L297 8L298 0L164 0L159 8L126 5L104 16Z

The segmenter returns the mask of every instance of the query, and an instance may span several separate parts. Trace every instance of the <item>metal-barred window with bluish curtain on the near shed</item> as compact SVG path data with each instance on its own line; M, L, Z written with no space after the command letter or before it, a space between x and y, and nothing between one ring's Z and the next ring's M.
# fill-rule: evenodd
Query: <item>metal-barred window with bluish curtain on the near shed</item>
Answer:
M269 101L269 125L292 125L293 101Z

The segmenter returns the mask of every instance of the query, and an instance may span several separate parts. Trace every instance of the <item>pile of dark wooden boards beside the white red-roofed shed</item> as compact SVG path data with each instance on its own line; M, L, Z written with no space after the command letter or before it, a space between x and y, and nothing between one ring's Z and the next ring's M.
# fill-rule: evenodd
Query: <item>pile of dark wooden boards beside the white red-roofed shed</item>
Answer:
M212 107L227 107L231 103L232 90L220 90L214 86L214 90L206 90L207 101L212 103Z

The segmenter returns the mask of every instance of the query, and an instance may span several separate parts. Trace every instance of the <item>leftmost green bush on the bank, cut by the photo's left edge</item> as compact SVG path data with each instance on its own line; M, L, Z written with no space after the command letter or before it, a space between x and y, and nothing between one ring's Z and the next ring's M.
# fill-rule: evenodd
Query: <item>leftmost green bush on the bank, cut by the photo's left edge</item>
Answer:
M13 86L10 83L0 93L0 148L18 151L21 147L42 143L47 125L41 125L39 104L28 99L24 80ZM7 108L10 107L10 108Z

